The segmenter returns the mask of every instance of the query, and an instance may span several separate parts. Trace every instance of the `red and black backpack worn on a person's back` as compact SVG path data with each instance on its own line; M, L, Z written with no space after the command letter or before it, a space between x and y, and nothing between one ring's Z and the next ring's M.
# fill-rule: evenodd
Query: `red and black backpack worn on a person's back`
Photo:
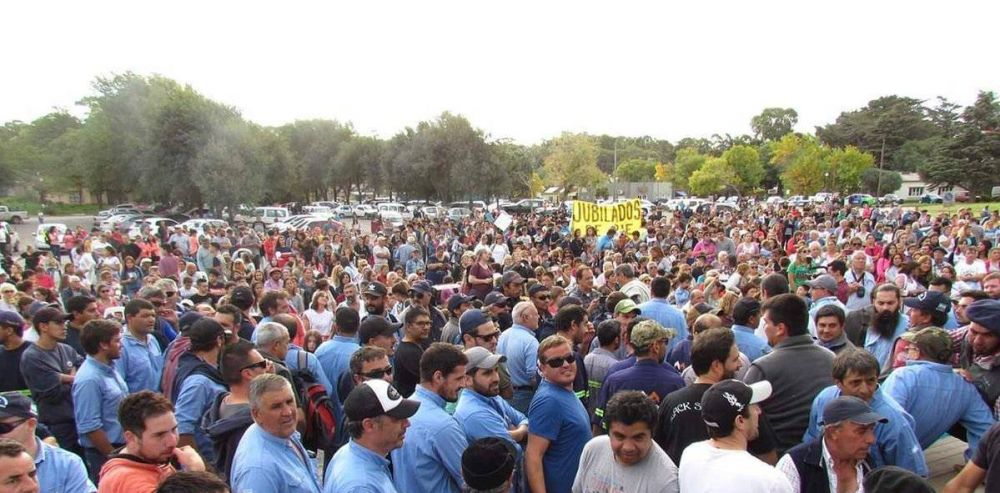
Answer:
M326 388L309 371L304 349L299 350L298 363L299 367L292 371L292 382L305 413L306 429L302 434L302 445L309 450L329 450L337 434L333 402L326 394Z

